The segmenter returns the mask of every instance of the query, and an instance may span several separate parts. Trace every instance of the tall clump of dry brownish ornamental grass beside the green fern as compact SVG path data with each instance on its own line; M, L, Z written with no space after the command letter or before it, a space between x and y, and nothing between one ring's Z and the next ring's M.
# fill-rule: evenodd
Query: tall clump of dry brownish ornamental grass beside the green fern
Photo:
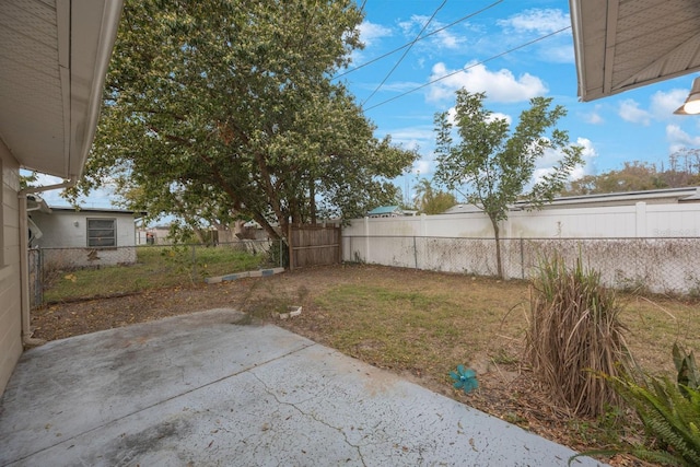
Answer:
M625 372L629 352L615 293L581 258L540 261L530 289L526 358L555 400L578 416L597 417L619 396L599 374Z

